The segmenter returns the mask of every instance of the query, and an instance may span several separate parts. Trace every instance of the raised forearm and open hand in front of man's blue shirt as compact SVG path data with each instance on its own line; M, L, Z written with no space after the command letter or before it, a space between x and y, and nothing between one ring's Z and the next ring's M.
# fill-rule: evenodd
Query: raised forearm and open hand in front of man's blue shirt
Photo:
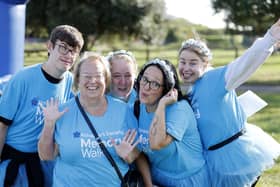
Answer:
M58 154L58 147L54 142L55 122L67 111L58 110L58 100L51 98L46 107L41 106L44 112L44 127L38 142L38 152L41 160L53 160Z

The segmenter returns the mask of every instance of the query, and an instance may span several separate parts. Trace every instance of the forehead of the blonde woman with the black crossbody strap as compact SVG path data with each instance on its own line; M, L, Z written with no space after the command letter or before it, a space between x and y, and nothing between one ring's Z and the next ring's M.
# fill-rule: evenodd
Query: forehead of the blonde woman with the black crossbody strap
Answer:
M80 73L102 73L104 66L99 60L89 59L81 65Z

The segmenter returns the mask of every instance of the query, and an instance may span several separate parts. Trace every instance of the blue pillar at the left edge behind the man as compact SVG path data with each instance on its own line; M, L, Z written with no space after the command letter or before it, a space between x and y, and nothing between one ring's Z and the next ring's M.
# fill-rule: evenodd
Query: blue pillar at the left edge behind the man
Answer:
M26 3L0 0L0 77L23 67Z

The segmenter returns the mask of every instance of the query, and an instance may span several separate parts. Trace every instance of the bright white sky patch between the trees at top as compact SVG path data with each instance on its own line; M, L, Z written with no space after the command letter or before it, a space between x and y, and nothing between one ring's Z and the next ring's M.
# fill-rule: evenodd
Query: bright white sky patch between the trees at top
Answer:
M210 28L224 28L223 14L214 14L211 0L165 0L167 14Z

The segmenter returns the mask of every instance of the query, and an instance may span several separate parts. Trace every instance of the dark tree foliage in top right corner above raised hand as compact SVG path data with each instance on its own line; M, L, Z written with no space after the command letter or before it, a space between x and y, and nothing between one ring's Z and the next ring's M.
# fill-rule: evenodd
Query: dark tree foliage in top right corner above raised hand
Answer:
M212 6L225 11L230 33L262 35L280 16L280 0L212 0Z

